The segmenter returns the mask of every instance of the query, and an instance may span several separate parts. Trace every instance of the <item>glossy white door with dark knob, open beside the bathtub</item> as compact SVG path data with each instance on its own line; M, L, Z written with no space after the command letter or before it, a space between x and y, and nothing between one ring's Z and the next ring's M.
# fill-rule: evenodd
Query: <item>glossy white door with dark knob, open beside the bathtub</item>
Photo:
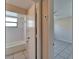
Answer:
M28 41L28 59L35 59L35 5L33 5L26 19L26 39Z

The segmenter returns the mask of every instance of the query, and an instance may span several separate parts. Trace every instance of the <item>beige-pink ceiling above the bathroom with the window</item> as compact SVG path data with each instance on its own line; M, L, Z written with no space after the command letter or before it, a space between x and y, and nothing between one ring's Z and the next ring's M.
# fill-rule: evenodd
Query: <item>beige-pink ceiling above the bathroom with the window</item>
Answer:
M6 0L6 3L15 5L20 8L28 9L32 6L33 0Z

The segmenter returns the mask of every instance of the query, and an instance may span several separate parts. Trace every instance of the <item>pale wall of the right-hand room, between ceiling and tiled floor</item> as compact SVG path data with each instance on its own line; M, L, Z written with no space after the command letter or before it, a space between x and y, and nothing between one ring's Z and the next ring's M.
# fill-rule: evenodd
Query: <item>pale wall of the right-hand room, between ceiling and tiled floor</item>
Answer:
M54 21L55 39L72 42L72 17Z

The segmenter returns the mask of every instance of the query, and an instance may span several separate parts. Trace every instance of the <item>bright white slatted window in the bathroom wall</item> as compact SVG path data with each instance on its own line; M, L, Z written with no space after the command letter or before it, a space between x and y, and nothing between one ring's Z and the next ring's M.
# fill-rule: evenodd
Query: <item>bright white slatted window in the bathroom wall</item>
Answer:
M17 14L6 11L6 27L17 27Z

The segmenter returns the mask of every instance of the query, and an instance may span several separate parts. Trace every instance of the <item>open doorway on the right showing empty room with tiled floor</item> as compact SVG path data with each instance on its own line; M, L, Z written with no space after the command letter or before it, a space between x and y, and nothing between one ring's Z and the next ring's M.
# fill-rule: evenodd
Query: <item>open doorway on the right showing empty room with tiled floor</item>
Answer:
M54 59L72 59L72 0L54 0Z

